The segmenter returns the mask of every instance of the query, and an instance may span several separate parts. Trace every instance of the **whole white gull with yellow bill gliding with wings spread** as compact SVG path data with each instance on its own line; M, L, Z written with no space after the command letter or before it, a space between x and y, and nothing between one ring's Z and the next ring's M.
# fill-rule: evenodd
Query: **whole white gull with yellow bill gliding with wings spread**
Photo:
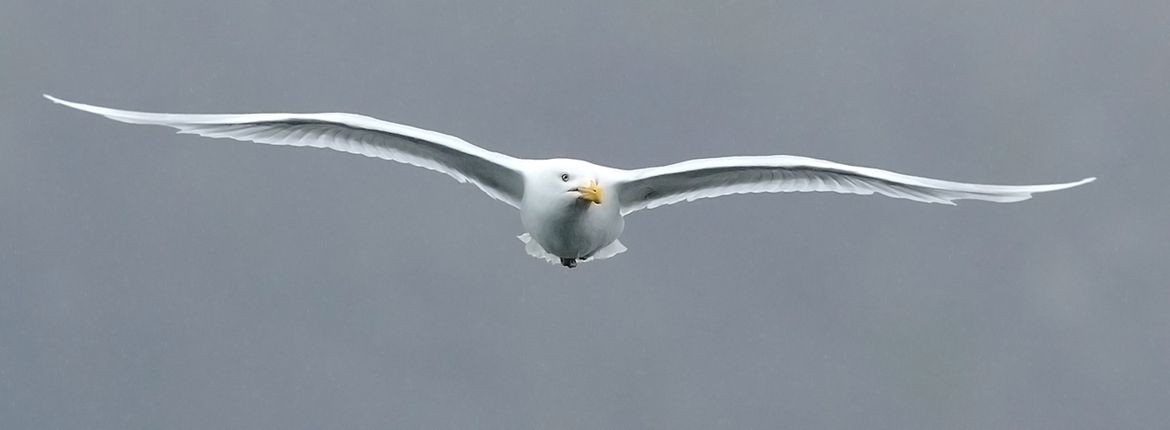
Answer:
M522 159L463 139L353 113L186 115L53 103L130 124L269 145L329 148L446 173L519 209L517 236L537 258L576 268L626 251L618 241L632 213L697 199L748 193L881 194L927 203L1016 202L1033 193L1094 181L1028 186L952 182L796 155L720 157L638 169L574 159Z

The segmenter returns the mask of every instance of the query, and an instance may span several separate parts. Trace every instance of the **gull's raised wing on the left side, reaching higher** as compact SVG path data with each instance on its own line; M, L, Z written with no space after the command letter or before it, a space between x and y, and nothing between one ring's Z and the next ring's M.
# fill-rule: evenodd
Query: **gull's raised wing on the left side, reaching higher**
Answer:
M353 113L183 115L123 111L62 100L53 103L130 124L179 129L179 133L270 145L330 148L400 161L472 182L494 199L519 207L523 160L463 139Z

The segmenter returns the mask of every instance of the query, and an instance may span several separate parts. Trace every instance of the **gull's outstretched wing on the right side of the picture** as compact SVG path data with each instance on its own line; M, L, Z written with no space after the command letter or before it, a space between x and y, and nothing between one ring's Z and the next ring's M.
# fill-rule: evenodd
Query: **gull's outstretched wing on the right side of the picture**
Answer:
M1014 202L1094 181L1003 186L951 182L793 155L724 157L628 171L618 200L621 214L682 201L745 193L835 192L882 194L928 203L956 200Z

